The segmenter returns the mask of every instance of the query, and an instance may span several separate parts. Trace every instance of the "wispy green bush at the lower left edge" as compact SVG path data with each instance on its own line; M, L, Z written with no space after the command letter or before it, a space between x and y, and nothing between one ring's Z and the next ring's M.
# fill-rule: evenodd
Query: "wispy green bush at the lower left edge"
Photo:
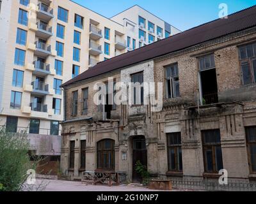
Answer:
M26 132L0 129L0 191L20 191L29 176L27 171L36 169L40 158L30 161L30 147Z

